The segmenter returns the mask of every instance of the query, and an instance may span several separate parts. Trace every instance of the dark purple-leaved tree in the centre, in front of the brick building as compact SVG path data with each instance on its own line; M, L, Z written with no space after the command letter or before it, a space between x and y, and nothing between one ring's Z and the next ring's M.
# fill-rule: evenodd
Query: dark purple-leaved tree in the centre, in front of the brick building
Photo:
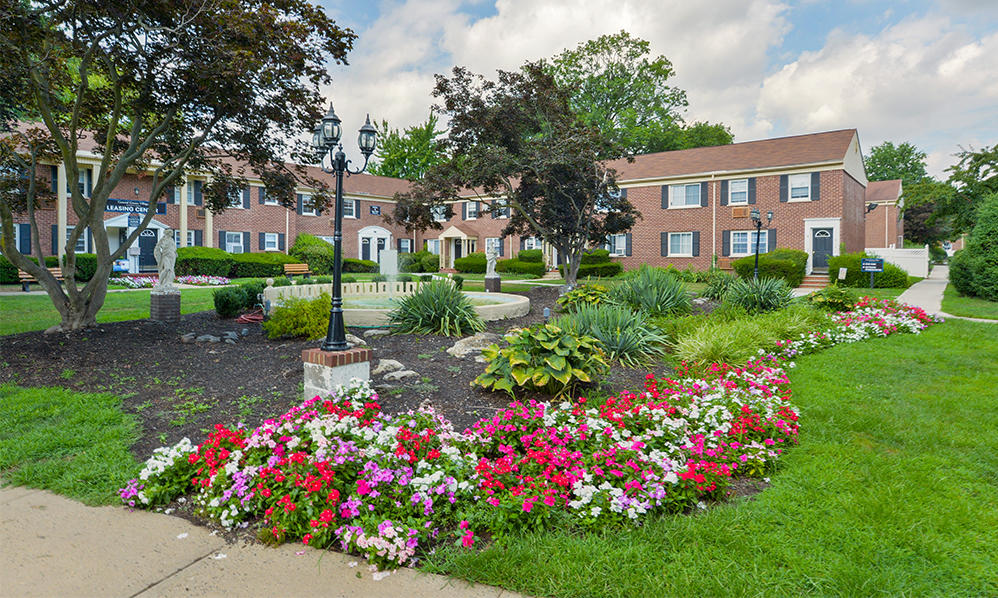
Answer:
M499 71L496 81L456 67L450 78L437 75L433 95L450 122L451 159L396 196L393 222L440 229L434 210L452 213L444 202L475 189L494 217L508 214L503 236L531 234L557 248L574 285L583 250L639 216L603 162L621 151L577 118L568 90L542 64Z

